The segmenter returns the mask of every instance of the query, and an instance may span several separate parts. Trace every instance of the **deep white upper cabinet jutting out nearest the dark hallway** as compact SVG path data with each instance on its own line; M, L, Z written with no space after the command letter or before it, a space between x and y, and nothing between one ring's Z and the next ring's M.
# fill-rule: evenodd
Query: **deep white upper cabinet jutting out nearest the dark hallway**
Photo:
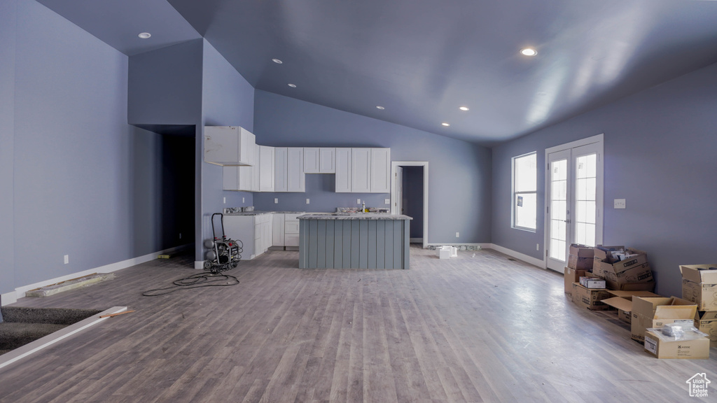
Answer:
M204 161L221 166L253 166L256 138L239 126L204 126Z

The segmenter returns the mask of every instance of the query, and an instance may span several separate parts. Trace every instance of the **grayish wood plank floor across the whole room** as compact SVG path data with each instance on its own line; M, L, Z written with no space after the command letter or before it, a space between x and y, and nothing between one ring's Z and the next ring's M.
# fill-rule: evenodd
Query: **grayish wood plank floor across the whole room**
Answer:
M434 253L371 271L300 270L298 252L268 252L230 272L234 287L141 296L197 272L174 257L22 298L136 312L4 369L0 401L699 402L685 381L717 384L717 349L655 359L614 312L566 300L558 273L490 250Z

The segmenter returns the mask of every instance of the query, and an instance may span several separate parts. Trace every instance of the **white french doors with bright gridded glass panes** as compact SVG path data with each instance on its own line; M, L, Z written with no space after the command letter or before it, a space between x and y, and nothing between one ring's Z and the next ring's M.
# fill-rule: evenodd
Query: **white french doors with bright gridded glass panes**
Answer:
M602 244L602 135L546 150L546 267L562 272L571 243Z

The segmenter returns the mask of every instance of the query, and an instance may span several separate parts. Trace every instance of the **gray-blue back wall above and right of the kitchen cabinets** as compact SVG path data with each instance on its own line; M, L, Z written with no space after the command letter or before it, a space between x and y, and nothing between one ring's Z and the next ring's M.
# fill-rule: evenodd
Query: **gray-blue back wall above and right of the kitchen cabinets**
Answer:
M488 148L261 90L255 95L254 120L257 143L265 146L390 147L392 161L429 161L428 242L490 242ZM298 200L279 209L303 211L307 197L310 206L314 204L314 194L320 193L307 190L299 196L283 196ZM282 195L288 194L257 193L255 206L276 209L274 197L281 201ZM373 196L379 197L379 203L386 198ZM348 197L345 202L353 199L348 205L355 205L358 196Z

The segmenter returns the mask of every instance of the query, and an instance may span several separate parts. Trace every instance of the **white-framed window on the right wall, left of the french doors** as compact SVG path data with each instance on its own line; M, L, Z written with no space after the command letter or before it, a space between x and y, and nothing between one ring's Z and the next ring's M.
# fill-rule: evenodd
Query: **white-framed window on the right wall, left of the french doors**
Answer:
M513 157L513 228L535 231L538 213L536 152Z

